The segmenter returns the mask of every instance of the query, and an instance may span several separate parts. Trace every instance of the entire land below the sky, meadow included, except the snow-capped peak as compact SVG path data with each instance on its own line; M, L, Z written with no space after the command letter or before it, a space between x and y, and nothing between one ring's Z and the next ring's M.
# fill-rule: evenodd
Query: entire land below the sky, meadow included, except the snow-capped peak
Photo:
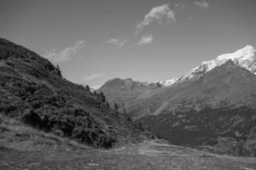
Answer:
M0 169L256 168L256 77L231 59L169 86L91 91L13 42L0 54Z

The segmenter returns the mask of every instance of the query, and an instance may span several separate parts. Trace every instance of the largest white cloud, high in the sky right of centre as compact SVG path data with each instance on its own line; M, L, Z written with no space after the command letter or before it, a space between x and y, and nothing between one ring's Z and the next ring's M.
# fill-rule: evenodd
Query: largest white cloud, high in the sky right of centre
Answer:
M162 20L176 21L175 13L169 8L169 4L163 4L158 7L151 8L150 12L144 16L144 20L137 25L137 33L143 31L145 26L149 26L152 22Z

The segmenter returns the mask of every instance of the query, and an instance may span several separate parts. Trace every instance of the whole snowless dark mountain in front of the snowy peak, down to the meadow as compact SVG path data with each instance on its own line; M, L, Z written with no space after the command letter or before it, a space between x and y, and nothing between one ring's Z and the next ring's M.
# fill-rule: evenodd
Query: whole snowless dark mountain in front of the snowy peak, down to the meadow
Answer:
M145 107L155 98L146 99ZM230 150L237 155L256 156L256 76L232 60L157 98L164 103L151 107L153 112L140 122L161 138L189 145L223 145L228 140L226 147L232 142Z

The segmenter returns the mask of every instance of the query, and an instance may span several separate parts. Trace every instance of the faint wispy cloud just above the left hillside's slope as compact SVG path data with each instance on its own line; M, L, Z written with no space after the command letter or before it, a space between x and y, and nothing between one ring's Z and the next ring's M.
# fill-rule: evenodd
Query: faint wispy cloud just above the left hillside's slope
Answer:
M49 59L53 63L61 63L73 58L74 54L77 54L79 49L84 48L84 40L76 42L73 47L64 48L60 52L56 52L55 49L51 49L43 54L44 58Z

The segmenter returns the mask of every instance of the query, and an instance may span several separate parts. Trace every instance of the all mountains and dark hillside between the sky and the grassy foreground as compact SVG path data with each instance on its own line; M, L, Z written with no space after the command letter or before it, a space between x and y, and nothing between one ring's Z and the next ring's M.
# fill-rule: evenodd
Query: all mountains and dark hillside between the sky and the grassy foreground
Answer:
M67 81L49 60L0 38L0 121L96 148L154 133L172 144L256 156L255 62L255 49L246 46L177 79L114 78L92 92Z

